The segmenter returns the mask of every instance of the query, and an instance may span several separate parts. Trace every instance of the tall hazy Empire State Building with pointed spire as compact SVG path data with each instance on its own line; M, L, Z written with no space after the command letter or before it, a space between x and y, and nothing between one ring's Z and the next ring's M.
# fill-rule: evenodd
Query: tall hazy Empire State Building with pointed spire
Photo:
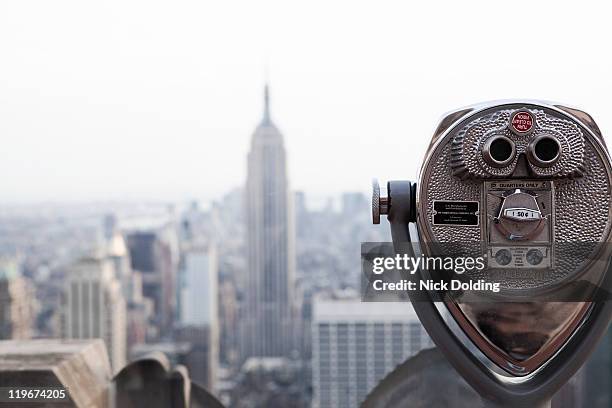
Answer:
M283 135L264 114L251 139L246 182L248 278L242 357L288 356L294 345L294 231Z

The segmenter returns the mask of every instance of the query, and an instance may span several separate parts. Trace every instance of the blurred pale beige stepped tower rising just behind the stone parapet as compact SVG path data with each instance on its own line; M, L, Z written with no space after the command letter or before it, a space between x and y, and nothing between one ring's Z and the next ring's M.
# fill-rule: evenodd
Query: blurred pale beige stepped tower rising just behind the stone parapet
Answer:
M62 334L68 339L101 338L116 372L126 362L126 305L113 264L83 258L66 274Z

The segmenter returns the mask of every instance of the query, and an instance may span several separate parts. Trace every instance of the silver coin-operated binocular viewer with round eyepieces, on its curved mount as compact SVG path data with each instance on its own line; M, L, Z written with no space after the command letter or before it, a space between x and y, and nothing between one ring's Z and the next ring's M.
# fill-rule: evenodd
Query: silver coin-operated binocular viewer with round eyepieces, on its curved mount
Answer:
M492 406L547 406L606 332L612 167L594 120L512 101L445 116L417 183L374 184L396 252L481 257L456 275L498 284L409 293L449 362ZM454 272L420 268L420 280Z

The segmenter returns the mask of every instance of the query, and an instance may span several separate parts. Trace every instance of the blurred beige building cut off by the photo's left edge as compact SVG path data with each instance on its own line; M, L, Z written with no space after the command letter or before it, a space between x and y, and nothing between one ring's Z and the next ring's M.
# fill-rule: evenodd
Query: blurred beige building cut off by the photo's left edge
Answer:
M21 276L15 261L0 259L0 339L32 337L36 295L29 279Z

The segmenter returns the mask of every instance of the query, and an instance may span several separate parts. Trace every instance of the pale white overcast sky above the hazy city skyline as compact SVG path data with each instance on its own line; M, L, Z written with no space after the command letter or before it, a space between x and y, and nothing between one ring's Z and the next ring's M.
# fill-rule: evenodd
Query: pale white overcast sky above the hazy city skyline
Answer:
M0 202L215 198L270 79L294 189L415 178L444 112L564 102L612 132L608 2L2 1Z

